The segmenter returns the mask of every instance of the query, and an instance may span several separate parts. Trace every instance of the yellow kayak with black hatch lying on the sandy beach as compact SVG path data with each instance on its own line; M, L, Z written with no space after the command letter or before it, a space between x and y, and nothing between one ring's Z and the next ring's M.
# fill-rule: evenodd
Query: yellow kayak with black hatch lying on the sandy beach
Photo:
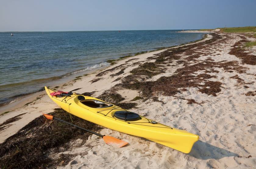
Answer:
M67 112L100 126L144 137L156 143L189 153L198 135L157 123L137 113L94 97L76 93L59 94L45 86L48 96Z

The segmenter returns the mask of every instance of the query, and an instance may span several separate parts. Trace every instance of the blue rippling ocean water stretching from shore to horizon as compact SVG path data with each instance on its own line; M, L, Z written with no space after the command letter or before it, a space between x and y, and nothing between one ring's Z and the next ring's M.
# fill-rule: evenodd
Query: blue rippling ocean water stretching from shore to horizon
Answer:
M179 30L0 32L0 103L108 59L201 39Z

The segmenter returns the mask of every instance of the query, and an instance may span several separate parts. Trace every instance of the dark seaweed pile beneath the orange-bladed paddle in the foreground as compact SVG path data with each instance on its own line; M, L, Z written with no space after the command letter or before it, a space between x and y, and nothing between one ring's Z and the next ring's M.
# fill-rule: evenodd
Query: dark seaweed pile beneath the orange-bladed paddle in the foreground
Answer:
M98 125L55 109L49 113L92 131L102 129ZM16 134L0 144L0 168L55 168L67 164L76 154L61 154L84 145L91 134L56 120L37 117ZM81 139L81 142L74 140ZM70 144L70 141L73 141ZM74 144L75 143L75 144ZM86 152L84 152L86 154Z

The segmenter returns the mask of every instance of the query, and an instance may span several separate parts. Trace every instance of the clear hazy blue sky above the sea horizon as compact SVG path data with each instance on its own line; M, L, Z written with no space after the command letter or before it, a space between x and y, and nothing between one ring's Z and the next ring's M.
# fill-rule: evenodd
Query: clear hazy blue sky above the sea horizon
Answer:
M256 26L256 0L0 0L0 31Z

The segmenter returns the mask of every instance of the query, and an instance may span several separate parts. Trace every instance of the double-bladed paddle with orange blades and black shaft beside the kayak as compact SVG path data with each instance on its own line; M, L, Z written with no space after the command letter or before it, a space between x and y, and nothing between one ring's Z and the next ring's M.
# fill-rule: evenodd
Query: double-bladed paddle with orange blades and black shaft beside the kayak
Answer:
M53 120L53 119L59 120L59 121L61 121L61 122L63 122L63 123L69 124L69 125L71 125L71 126L77 127L77 128L79 128L79 129L82 129L82 130L88 131L88 132L90 132L90 133L92 133L92 134L95 134L95 135L97 135L97 136L100 136L101 138L103 138L103 140L105 141L105 143L108 144L108 145L117 146L117 147L123 147L123 146L125 146L126 144L128 144L126 141L119 140L119 139L117 139L117 138L115 138L115 137L105 136L105 135L101 135L101 134L95 133L95 132L93 132L93 131L91 131L91 130L87 130L87 129L83 128L83 127L76 126L75 124L72 124L72 123L69 123L69 122L67 122L67 121L61 120L61 119L56 118L56 117L54 117L54 116L52 116L52 115L44 114L44 113L43 113L43 115L44 115L44 117L46 117L47 119L50 119L50 120Z

